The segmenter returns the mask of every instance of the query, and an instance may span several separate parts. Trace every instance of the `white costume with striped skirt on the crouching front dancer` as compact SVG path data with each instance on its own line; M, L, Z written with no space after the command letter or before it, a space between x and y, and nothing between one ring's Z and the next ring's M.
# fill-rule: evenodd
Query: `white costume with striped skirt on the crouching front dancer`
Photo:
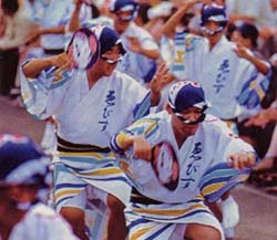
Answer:
M230 168L228 156L238 152L254 152L253 147L236 137L222 121L207 115L195 135L188 137L181 148L177 147L171 121L171 115L165 111L148 115L112 138L111 145L121 156L121 139L125 135L143 135L152 146L167 142L172 145L179 166L177 186L168 189L160 184L150 161L132 158L132 150L125 153L122 168L136 190L164 202L148 205L146 200L145 205L131 202L127 206L125 213L130 239L136 236L134 238L140 240L172 240L176 225L189 222L213 226L222 231L219 222L203 199L216 201L223 192L245 180L249 174L249 169ZM166 166L166 160L164 166L164 173L171 169L170 165Z

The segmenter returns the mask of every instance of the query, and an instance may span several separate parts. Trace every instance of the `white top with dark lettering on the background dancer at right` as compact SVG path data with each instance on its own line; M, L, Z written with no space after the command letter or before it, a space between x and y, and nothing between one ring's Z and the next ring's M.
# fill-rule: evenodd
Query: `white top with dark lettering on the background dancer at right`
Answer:
M247 82L265 79L249 61L237 56L234 48L224 35L212 50L206 38L191 33L175 38L172 73L178 80L201 82L212 103L208 113L222 119L235 118L244 111L237 97Z

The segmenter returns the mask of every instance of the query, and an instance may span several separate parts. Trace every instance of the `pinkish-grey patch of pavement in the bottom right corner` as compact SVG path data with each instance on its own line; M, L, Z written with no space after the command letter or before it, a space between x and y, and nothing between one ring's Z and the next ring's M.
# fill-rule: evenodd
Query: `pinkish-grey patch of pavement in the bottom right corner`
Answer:
M277 197L250 185L233 190L240 220L235 240L277 240Z

